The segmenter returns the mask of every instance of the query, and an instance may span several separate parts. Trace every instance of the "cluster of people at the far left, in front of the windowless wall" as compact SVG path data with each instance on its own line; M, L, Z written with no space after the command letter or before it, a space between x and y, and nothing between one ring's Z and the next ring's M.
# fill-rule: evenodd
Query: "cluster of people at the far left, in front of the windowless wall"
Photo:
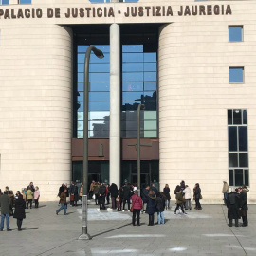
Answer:
M9 228L9 217L17 219L18 231L21 231L23 219L26 218L25 209L32 208L34 202L35 208L39 206L40 191L36 186L34 187L33 182L30 182L27 188L23 188L17 191L15 194L9 190L6 186L4 192L0 189L0 206L1 206L1 224L0 231L3 231L5 220L7 225L7 231L11 231ZM14 210L13 210L14 209Z

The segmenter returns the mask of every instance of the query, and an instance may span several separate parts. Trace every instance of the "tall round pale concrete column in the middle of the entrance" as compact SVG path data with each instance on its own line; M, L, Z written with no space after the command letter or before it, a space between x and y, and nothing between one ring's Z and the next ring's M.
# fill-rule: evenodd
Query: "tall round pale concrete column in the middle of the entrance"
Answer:
M120 28L110 26L109 181L120 186Z

